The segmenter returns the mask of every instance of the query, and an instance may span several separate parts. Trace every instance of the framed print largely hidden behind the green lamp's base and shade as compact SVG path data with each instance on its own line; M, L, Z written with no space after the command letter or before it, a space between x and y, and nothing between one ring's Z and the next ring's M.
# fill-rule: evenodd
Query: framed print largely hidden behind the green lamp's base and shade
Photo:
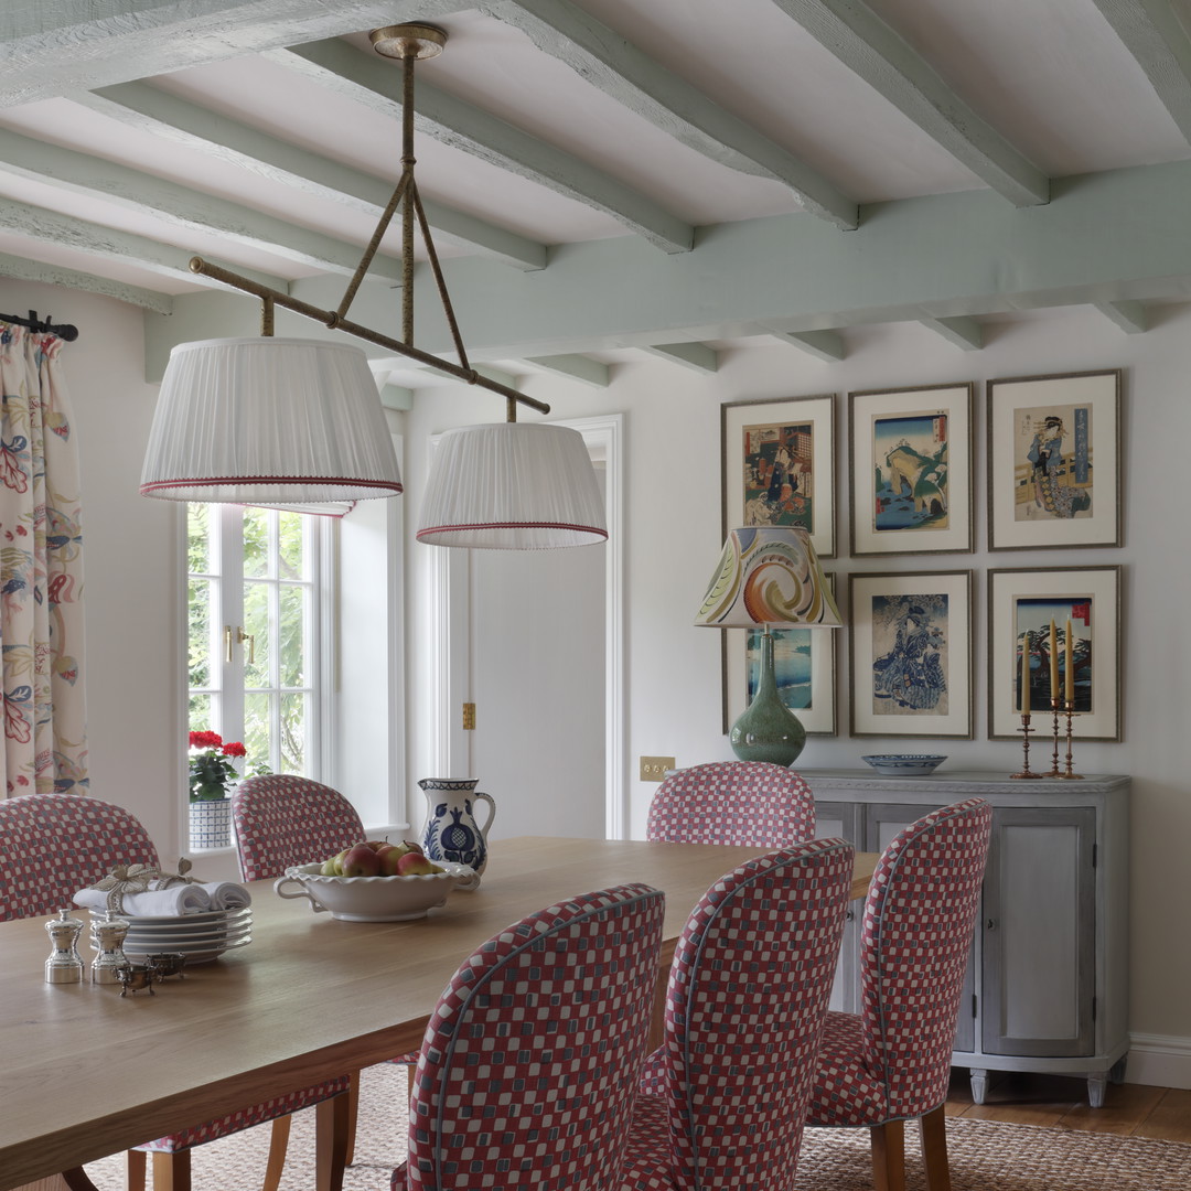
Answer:
M835 594L835 575L824 572ZM744 713L756 693L763 630L724 629L724 734ZM835 736L836 629L773 630L773 666L782 701L798 716L807 736Z

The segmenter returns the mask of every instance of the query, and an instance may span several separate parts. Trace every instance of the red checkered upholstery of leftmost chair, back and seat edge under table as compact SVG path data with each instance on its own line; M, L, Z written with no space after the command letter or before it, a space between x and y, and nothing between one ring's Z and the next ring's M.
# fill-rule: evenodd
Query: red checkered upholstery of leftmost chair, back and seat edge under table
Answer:
M80 888L124 863L158 863L148 833L124 807L83 794L0 799L0 918L30 918L73 906ZM189 1149L347 1089L345 1078L329 1080L136 1148Z

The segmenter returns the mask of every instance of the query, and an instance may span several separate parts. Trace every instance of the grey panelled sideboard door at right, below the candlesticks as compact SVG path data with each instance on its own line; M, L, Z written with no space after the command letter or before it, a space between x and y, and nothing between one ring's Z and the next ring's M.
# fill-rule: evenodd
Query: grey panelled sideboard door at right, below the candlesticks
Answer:
M1096 811L997 807L984 881L981 1049L1095 1053Z

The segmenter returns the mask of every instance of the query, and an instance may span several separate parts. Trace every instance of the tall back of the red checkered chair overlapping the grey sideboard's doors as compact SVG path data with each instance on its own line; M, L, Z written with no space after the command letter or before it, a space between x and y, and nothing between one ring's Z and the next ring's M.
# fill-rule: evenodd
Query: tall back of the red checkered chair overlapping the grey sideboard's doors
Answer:
M980 903L992 807L931 811L881 854L861 928L865 1065L884 1072L887 1116L947 1098L964 974Z

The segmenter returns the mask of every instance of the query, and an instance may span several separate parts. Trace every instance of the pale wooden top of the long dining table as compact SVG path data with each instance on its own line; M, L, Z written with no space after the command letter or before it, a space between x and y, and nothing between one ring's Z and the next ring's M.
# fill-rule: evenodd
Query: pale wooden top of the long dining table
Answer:
M629 881L665 891L663 991L691 909L766 850L494 841L480 887L413 922L343 922L258 881L251 943L154 996L46 984L46 919L0 922L0 1191L418 1049L439 993L481 942L575 893ZM858 855L854 897L875 861ZM80 953L91 956L85 941Z

